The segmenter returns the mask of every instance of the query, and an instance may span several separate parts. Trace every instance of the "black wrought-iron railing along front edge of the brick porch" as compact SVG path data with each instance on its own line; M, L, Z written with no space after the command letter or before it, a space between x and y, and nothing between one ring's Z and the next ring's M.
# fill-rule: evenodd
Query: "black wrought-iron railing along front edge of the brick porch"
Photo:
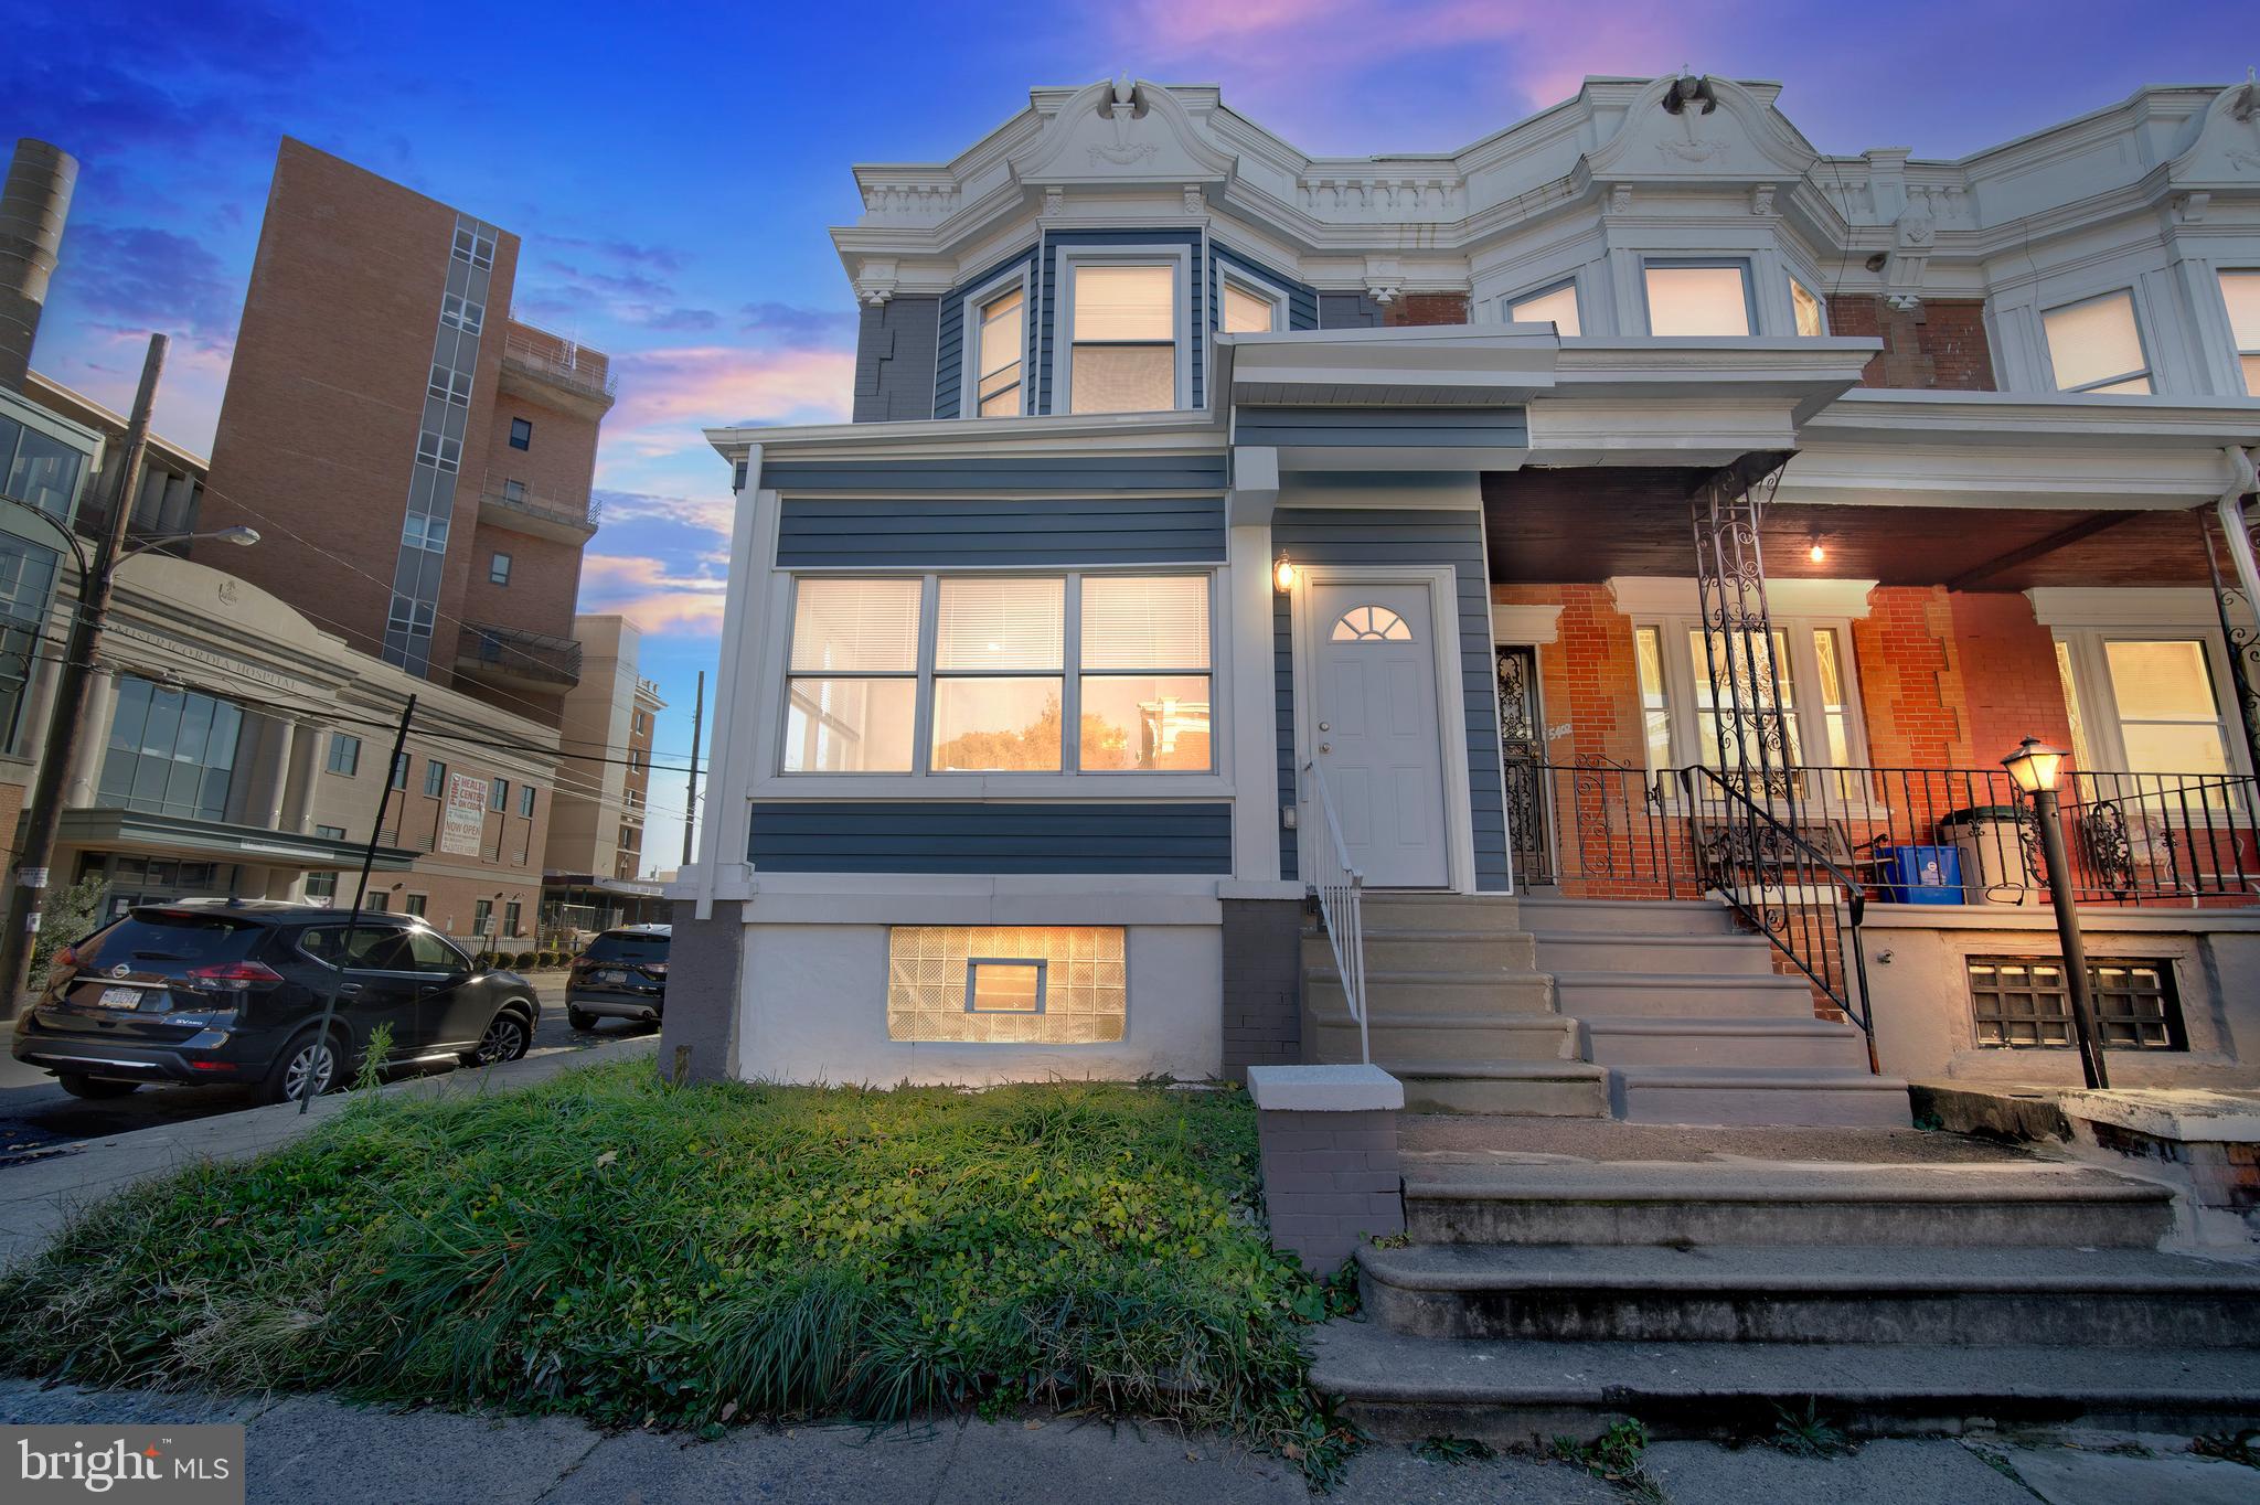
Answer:
M1785 768L1761 775L1507 762L1519 881L1607 897L1720 888L1688 777L1745 795L1869 899L2050 904L2032 804L2005 768ZM2235 773L2070 773L2059 791L2075 902L2260 904L2260 784Z

